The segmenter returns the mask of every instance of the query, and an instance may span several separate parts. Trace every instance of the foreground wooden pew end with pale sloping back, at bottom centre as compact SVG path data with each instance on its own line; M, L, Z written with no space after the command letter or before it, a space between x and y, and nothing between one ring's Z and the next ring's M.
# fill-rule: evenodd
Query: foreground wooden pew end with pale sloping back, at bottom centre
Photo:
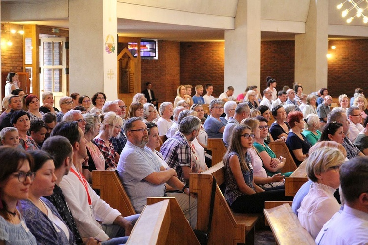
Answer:
M127 244L199 245L199 242L174 197L149 197Z

